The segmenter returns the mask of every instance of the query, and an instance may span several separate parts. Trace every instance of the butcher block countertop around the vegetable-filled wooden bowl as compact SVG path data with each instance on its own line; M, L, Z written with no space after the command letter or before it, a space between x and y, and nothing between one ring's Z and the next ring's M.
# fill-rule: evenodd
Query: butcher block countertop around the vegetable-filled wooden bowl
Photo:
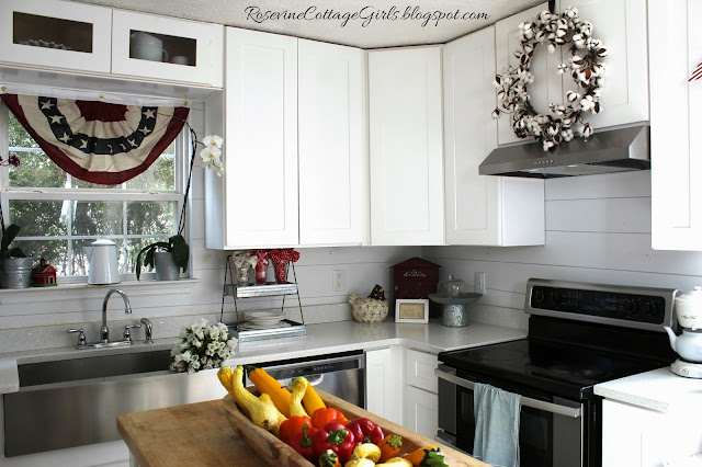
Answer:
M422 445L438 444L370 412L364 414L381 421L381 426L394 433L420 438ZM134 462L141 467L258 467L268 464L229 425L222 399L118 415L117 429ZM440 446L452 467L487 466L455 449Z

